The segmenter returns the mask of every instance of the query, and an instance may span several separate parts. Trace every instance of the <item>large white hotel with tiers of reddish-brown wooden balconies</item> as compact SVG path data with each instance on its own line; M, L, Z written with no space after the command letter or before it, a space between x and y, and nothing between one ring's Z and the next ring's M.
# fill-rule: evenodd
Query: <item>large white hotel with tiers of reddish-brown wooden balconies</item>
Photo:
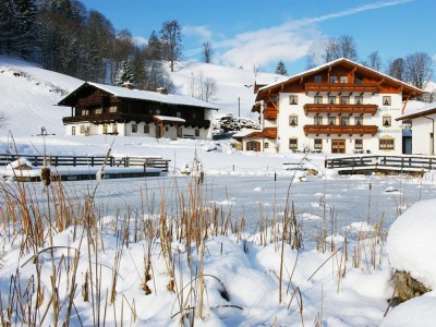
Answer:
M341 58L258 88L263 130L240 141L247 150L401 154L396 119L423 93Z

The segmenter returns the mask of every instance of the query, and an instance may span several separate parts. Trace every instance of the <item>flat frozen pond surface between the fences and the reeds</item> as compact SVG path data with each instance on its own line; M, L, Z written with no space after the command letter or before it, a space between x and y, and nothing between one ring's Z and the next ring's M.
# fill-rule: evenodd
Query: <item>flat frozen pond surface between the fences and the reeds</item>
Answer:
M77 194L89 194L96 187L96 203L105 213L123 215L125 208L142 208L154 214L159 211L161 198L168 213L175 211L183 196L190 197L191 177L147 179L120 179L65 183ZM232 221L245 217L246 231L258 228L261 217L281 219L289 177L205 177L203 202L214 202L226 214L231 211ZM338 231L355 221L380 221L389 227L398 213L416 201L434 198L434 183L422 183L409 177L336 177L319 179L308 177L306 182L293 182L289 199L294 202L298 220L303 225L303 237L310 243L326 221L328 233ZM325 204L325 205L324 205ZM324 219L325 217L325 219Z

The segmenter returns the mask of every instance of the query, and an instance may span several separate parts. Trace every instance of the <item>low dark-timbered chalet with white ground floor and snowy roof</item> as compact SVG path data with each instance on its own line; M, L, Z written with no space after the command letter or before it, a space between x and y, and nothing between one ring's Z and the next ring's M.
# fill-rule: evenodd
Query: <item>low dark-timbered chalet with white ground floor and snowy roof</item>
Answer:
M71 107L69 135L113 134L156 138L211 138L218 107L180 95L86 82L58 104Z

